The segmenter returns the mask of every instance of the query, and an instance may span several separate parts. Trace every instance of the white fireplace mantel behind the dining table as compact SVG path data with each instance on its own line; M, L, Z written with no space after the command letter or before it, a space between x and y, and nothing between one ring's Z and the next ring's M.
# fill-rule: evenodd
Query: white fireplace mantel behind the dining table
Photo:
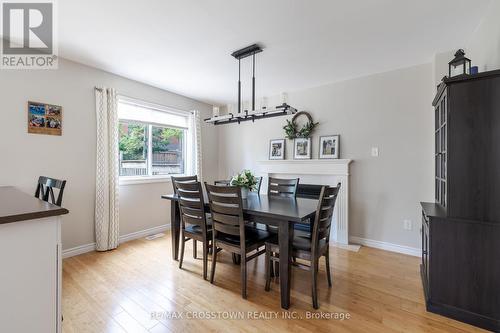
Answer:
M305 183L336 186L341 183L340 193L334 211L331 239L339 245L349 244L349 165L350 159L335 160L268 160L259 161L259 174L269 176L287 176L306 178ZM303 177L301 177L303 176ZM267 191L267 179L263 182Z

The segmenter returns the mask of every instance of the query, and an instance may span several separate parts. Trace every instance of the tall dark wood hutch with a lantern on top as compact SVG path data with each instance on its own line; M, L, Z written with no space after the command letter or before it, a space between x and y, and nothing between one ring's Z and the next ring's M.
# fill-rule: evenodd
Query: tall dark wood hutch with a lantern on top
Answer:
M422 203L427 310L500 332L500 71L445 78L435 202Z

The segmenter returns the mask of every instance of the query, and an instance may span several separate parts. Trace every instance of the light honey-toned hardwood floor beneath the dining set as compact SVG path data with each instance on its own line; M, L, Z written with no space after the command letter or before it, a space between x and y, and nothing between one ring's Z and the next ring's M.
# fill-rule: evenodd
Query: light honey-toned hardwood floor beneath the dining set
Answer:
M425 311L416 257L367 247L358 253L333 247L331 289L324 259L320 261L320 309L312 308L309 272L293 269L292 305L282 312L277 282L271 284L270 292L264 291L264 256L248 265L248 299L243 300L240 270L231 256L224 251L218 256L215 285L210 285L202 278L202 260L193 259L191 244L186 244L182 270L172 260L169 234L152 241L131 241L111 252L65 259L63 331L482 331ZM348 313L350 319L305 319L308 313L335 312ZM167 318L172 313L184 317ZM284 314L302 319L284 319ZM233 318L193 319L195 315ZM243 319L234 317L241 315Z

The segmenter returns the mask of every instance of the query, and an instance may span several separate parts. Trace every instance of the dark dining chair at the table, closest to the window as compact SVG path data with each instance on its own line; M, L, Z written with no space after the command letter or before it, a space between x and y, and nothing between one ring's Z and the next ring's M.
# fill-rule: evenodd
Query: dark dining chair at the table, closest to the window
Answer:
M207 279L208 250L212 240L212 226L207 221L205 202L200 182L174 182L175 191L179 196L179 210L181 215L181 252L179 268L184 260L184 246L189 240L196 241L203 246L203 279ZM194 256L196 258L196 256Z

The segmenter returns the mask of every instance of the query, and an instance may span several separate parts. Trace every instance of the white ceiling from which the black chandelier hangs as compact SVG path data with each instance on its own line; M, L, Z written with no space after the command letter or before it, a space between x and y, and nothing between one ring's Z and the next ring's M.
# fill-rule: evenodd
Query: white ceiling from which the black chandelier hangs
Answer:
M60 56L210 103L236 100L230 53L258 42L257 95L430 62L490 0L63 0ZM250 94L250 58L242 61Z

